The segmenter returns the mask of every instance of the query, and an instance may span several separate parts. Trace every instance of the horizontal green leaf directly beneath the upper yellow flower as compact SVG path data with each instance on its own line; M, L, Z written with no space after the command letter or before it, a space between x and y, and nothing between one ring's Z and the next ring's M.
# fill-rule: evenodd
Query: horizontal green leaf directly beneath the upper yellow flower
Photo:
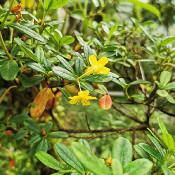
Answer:
M90 81L93 83L103 83L103 82L109 82L112 80L112 77L104 74L98 74L98 75L89 75L89 76L84 76L81 78L83 81Z

